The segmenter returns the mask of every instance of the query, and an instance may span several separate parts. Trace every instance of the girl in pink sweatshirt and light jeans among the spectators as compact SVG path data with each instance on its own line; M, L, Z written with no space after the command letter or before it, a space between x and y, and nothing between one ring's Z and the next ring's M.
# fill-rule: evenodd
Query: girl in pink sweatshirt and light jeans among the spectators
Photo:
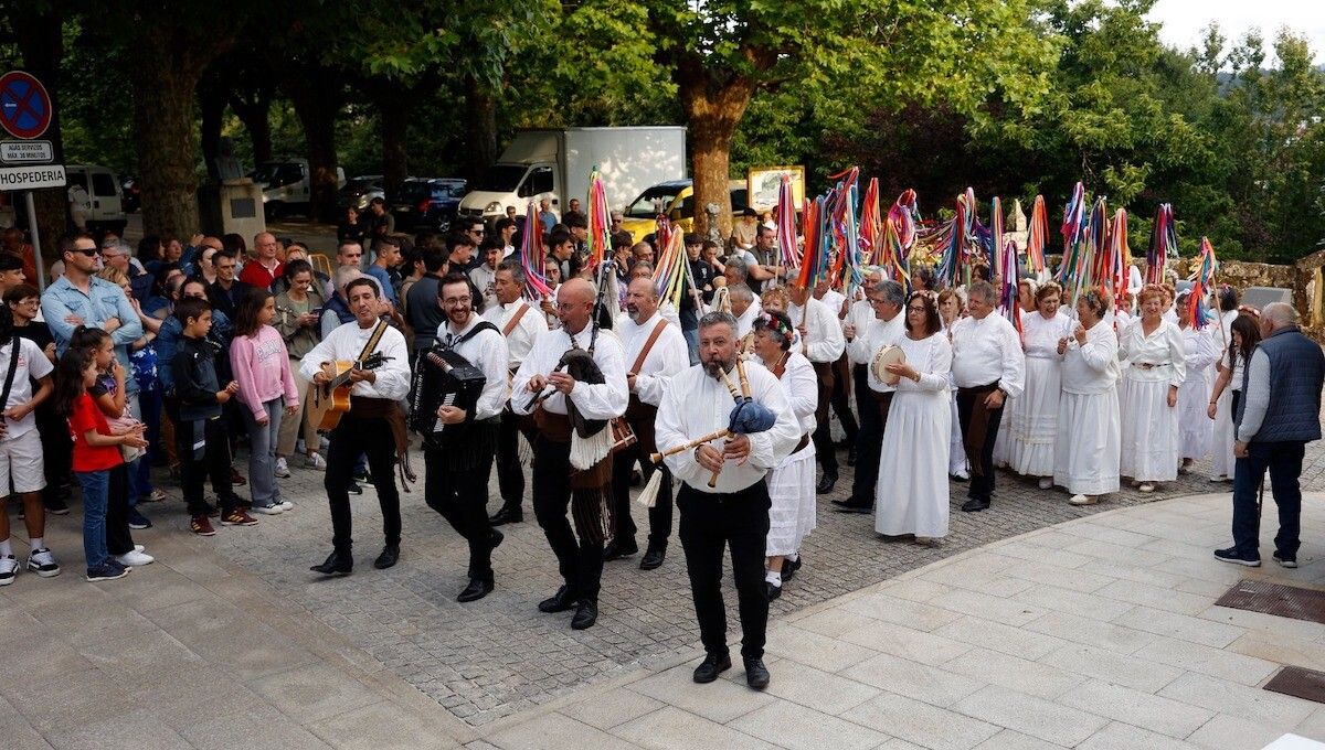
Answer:
M281 499L276 485L276 444L281 431L281 407L293 417L299 409L285 340L272 327L276 299L266 290L252 290L235 313L235 340L231 341L231 368L240 384L240 403L249 433L249 481L253 511L274 516L294 504ZM284 398L282 398L284 397Z

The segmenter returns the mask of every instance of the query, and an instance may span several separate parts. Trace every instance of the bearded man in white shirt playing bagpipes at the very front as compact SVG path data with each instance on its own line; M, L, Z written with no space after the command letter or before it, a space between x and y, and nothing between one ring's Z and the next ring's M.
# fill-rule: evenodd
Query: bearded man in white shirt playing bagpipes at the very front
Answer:
M766 478L795 450L800 425L778 378L751 362L745 366L750 394L776 415L772 427L733 435L719 444L684 448L690 440L729 426L731 394L722 377L726 373L737 378L735 362L735 319L725 312L705 315L700 320L700 364L672 378L659 406L657 446L664 454L682 448L664 460L684 483L676 499L681 512L680 537L706 652L694 671L694 681L712 683L731 668L722 601L722 553L730 546L746 684L762 690L768 687L768 669L763 664L768 623L763 575L770 505Z

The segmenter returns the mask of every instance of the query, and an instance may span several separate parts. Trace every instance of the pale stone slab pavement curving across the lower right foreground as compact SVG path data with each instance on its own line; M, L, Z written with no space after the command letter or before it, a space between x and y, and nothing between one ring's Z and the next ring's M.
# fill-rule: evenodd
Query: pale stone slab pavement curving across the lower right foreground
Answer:
M1325 626L1214 606L1240 578L1325 587L1322 500L1304 503L1297 570L1271 562L1269 546L1260 569L1211 557L1228 542L1226 493L1122 508L771 624L766 693L745 687L739 661L716 684L693 684L696 651L497 722L466 747L1235 750L1288 731L1325 741L1325 706L1259 689L1284 664L1325 669Z

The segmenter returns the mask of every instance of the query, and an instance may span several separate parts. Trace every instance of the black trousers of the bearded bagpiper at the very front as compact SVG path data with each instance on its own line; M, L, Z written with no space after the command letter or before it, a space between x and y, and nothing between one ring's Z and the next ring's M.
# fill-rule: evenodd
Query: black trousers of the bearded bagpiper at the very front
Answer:
M731 546L731 573L741 612L741 656L763 656L768 627L768 589L763 552L768 537L768 485L759 480L741 492L712 495L681 485L681 548L690 577L700 642L709 653L727 653L727 611L722 599L722 552Z

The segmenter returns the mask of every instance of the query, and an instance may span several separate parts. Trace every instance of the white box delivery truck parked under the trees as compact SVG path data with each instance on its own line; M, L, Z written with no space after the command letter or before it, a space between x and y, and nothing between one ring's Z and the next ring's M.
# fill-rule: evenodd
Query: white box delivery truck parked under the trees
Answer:
M607 202L619 209L657 183L685 177L685 127L572 127L522 130L497 164L460 201L461 217L494 221L506 206L551 200L558 217L571 198L588 210L588 177L598 165Z

